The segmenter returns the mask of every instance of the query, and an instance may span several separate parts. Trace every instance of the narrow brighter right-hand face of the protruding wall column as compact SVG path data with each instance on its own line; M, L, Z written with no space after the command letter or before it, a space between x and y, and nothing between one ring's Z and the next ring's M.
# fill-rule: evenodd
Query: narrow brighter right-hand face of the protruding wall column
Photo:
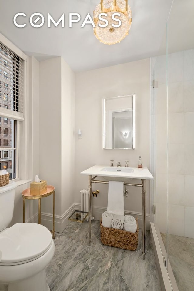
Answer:
M75 183L75 74L63 58L61 80L61 213L63 214L74 203Z

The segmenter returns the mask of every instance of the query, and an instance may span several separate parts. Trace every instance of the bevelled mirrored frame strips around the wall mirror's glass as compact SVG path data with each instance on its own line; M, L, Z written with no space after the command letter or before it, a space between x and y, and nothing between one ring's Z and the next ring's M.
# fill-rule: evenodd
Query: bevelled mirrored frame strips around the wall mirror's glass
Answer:
M117 150L134 150L135 149L135 93L132 95L124 95L124 96L116 96L116 97L110 97L110 98L103 98L103 149L105 150L115 150L113 149L106 149L105 147L105 138L106 138L106 121L105 121L105 111L106 111L106 100L107 99L114 99L119 97L127 97L132 96L132 147L131 148L120 148Z

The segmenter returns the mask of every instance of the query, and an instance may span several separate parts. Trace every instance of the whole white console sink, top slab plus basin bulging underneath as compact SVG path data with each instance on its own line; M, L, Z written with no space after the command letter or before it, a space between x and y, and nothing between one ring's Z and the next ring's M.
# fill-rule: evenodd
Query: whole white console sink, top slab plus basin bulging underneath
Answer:
M153 179L148 168L138 167L108 167L95 165L81 174L100 176L107 181L129 182L132 179Z

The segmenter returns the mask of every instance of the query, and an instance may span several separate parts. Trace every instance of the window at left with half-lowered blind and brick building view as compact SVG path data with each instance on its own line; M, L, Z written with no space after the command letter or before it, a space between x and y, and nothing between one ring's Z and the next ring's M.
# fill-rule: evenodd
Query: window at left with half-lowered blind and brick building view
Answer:
M21 55L22 52L21 52ZM0 140L1 169L7 169L9 178L17 177L18 169L18 137L19 121L23 121L23 92L24 92L24 60L15 55L12 50L0 43L0 123L3 119L2 132L5 139ZM3 148L6 149L4 150Z

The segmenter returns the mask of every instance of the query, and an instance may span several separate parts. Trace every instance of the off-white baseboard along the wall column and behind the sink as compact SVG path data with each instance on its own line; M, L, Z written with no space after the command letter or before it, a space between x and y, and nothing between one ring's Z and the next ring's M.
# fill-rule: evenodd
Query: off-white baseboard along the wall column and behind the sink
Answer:
M69 207L68 210L63 213L62 216L55 215L55 231L62 233L65 227L69 224L68 218L72 215L75 210L81 210L80 203L73 203L72 206ZM93 207L93 216L95 220L101 220L102 213L106 211L105 207ZM134 212L130 210L125 210L125 214L129 214L138 218L139 228L142 228L142 213ZM36 213L33 217L26 220L26 222L34 222L38 223L38 213ZM52 230L53 227L53 215L51 213L41 212L41 224L47 227L49 230ZM150 226L150 215L146 214L146 229L149 230Z

